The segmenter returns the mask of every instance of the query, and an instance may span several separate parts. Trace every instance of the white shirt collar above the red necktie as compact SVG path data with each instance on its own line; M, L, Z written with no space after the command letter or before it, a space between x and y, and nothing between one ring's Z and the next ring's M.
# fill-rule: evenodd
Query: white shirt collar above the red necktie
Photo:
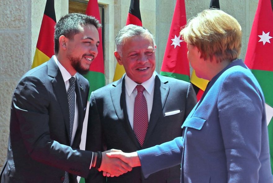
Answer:
M125 79L125 89L126 89L128 95L130 96L138 84L135 81L133 81L131 78L129 78L126 74L125 74L124 79ZM153 75L150 77L150 79L141 83L141 85L145 88L145 90L149 94L151 94L151 92L154 88L154 80L155 80L155 73L153 73Z

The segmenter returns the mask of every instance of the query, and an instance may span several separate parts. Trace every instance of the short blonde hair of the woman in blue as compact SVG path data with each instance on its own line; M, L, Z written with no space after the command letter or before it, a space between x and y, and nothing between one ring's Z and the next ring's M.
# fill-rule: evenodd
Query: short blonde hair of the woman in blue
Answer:
M238 21L218 9L204 10L180 32L184 41L201 51L201 57L217 62L235 60L241 51L242 32Z

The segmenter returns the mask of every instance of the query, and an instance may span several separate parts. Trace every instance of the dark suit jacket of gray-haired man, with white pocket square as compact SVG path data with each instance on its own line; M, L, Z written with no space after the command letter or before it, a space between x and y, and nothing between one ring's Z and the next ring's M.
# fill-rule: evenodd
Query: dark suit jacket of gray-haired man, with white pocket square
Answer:
M188 82L156 75L153 107L148 130L142 148L151 147L182 135L181 125L196 103L195 92ZM175 115L165 112L180 110ZM126 101L124 77L110 85L92 92L87 127L86 150L103 151L120 149L133 152L142 149L130 126ZM141 168L119 177L109 177L107 182L179 182L180 166L162 170L145 179ZM105 182L101 172L92 171L86 182Z

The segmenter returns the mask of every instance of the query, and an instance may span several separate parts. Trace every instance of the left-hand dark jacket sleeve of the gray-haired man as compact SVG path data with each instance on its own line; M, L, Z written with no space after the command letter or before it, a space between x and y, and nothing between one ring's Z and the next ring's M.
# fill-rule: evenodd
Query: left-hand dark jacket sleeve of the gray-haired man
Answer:
M90 96L85 150L104 151L103 143L100 115L96 104L95 94L92 92ZM102 175L102 172L91 169L85 182L103 183L106 182L106 178Z

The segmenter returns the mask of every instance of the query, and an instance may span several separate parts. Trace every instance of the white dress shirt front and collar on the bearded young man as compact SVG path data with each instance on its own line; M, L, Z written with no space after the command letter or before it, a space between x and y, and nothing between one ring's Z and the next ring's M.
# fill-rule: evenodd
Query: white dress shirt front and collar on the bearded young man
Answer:
M62 66L62 64L58 61L58 59L56 58L55 55L53 56L53 59L55 60L57 66L60 69L60 72L61 72L61 74L63 76L64 82L65 82L65 89L66 89L66 93L67 93L69 85L70 85L68 80L71 77L74 77L76 79L76 74L74 76L71 76L69 74L69 72L64 68L64 66ZM77 101L76 92L75 92L75 97L76 97L76 100L75 100L75 116L74 116L74 124L73 124L73 131L72 131L70 146L72 146L72 144L73 144L74 137L75 137L75 134L76 134L76 131L77 131L77 128L78 128L78 104L76 102Z

